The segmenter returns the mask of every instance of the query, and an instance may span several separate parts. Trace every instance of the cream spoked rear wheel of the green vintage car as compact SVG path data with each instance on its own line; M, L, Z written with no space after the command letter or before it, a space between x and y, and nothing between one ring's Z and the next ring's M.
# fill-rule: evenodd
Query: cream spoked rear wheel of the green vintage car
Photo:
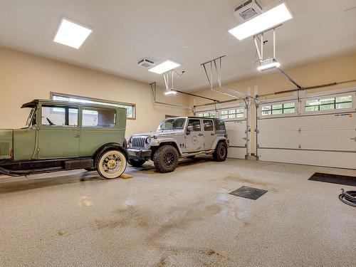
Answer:
M122 152L109 150L99 156L96 169L104 179L114 179L125 172L126 164L127 160Z

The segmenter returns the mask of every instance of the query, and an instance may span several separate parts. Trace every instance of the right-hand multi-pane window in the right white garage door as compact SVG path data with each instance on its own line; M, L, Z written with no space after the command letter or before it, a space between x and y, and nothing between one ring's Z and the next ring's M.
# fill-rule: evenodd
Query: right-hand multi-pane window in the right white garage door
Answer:
M342 108L352 108L352 95L305 100L305 112L340 110Z

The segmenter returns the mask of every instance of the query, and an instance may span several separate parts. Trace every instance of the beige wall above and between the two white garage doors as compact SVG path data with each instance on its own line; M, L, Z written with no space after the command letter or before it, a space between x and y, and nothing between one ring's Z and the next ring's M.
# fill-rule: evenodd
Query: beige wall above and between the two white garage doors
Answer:
M282 66L283 67L283 66ZM303 86L310 85L320 85L325 83L339 82L343 80L355 80L356 79L356 53L352 53L347 56L342 56L339 58L329 59L327 61L319 63L311 63L305 66L299 66L298 68L291 68L284 70L288 75L290 75L297 83ZM224 80L223 80L224 84ZM253 95L254 87L258 88L258 95L263 95L266 93L273 93L281 90L289 90L295 88L295 86L290 83L288 80L283 78L280 73L277 73L276 70L270 70L267 73L258 73L256 70L256 77L241 80L236 83L231 83L224 85L225 88L231 88L238 90L241 93L247 93L247 88L251 88L251 93ZM330 86L328 88L320 88L318 90L308 90L308 93L315 91L326 91L326 90L335 90L338 88L347 88L356 86L356 82L352 83L343 83L340 85ZM229 92L227 90L219 89L224 92ZM211 90L201 90L196 92L198 95L204 95L211 97L217 100L228 100L231 99L225 95L220 95L219 93L214 93ZM272 95L268 98L281 98L292 93L283 94L283 95ZM194 98L190 98L190 105L194 104ZM197 105L201 103L209 103L209 101L201 100L197 98ZM229 103L231 104L231 103ZM227 105L227 104L226 104ZM212 107L212 106L210 106ZM251 107L251 117L254 116L255 107ZM254 120L251 120L251 152L254 152L256 148L255 137L254 137L255 123Z

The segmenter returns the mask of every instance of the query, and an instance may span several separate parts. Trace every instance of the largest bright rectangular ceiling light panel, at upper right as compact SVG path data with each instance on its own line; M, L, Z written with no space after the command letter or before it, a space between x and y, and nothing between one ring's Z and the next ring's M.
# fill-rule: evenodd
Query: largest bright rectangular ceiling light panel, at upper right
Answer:
M292 18L293 15L288 10L286 4L283 3L235 28L231 28L229 33L239 40L243 40L244 38L261 33L261 31L266 31L268 28L272 28Z

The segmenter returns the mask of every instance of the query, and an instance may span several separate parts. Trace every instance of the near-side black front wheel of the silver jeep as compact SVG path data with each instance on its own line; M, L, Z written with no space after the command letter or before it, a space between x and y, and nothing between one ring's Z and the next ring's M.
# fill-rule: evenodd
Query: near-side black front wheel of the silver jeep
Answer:
M178 165L179 153L172 145L164 145L156 150L153 163L159 172L173 172Z

